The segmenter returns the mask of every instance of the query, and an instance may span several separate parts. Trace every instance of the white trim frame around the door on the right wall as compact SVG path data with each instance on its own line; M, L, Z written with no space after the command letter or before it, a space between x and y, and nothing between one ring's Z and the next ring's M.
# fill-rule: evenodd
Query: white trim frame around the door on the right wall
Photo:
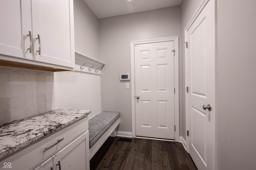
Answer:
M190 21L188 22L188 24L186 25L185 29L184 29L184 43L187 42L188 40L188 30L190 29L190 27L192 26L192 24L194 23L194 21L196 20L196 18L199 16L199 14L202 12L202 10L204 9L204 7L206 6L206 4L209 2L210 0L202 0L202 2L200 3L200 5L198 6L198 8L196 9L196 12L194 13L194 15L192 16L192 18L190 19ZM214 1L214 16L215 16L215 25L214 25L214 29L215 29L215 100L214 100L214 111L215 111L215 119L214 119L214 140L213 140L213 169L217 170L218 169L218 165L217 165L217 8L216 8L216 0ZM189 44L188 44L189 46ZM186 46L184 45L184 56L185 56L185 87L188 86L188 74L189 74L189 70L187 69L188 67L188 53L187 53L187 49ZM185 92L185 97L186 97L186 131L190 130L188 129L189 127L189 120L188 120L188 93ZM186 135L186 151L189 153L189 137Z

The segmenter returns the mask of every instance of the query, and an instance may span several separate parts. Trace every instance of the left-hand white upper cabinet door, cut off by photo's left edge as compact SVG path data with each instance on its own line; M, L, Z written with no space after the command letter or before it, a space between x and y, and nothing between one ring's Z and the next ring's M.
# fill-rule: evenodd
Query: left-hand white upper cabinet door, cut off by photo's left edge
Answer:
M0 0L0 55L33 59L30 9L30 0Z

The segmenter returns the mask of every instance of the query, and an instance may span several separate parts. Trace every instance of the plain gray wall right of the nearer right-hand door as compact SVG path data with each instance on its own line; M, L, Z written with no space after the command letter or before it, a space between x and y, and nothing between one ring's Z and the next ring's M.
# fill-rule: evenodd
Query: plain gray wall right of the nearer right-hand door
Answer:
M218 169L255 169L256 1L218 0Z

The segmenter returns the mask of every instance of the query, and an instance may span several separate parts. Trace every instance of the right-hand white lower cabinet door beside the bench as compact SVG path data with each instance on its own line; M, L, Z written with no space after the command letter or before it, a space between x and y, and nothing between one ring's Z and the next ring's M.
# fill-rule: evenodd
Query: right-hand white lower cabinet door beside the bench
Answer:
M86 154L88 154L86 152L87 135L88 131L52 156L54 170L86 170Z

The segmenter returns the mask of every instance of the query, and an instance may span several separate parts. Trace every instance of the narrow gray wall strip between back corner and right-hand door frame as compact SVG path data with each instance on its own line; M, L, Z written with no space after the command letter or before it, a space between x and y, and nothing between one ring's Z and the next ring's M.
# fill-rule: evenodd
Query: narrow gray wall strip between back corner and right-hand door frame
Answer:
M181 39L182 45L180 46L180 64L182 65L182 74L180 74L180 81L182 81L182 87L180 91L182 92L182 109L180 109L180 123L182 127L180 127L180 136L184 138L186 141L186 91L185 91L185 48L183 42L185 41L184 30L189 20L192 18L193 14L196 12L199 4L202 0L182 0L182 4L180 5L181 10Z

